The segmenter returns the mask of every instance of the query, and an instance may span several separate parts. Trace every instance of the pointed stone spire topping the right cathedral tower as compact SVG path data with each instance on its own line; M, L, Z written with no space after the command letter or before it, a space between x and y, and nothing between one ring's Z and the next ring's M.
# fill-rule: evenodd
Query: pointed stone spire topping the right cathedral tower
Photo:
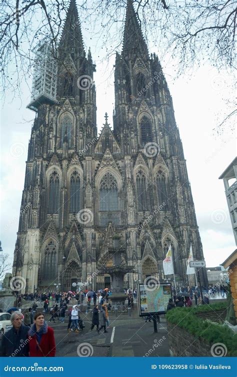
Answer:
M125 26L123 32L122 55L148 55L141 27L133 8L133 0L127 0Z

